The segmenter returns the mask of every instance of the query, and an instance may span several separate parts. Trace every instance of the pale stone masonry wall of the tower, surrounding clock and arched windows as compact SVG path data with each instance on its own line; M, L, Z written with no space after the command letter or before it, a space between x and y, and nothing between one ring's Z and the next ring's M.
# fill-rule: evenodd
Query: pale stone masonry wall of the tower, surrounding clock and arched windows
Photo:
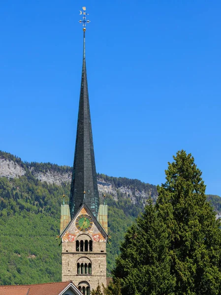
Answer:
M62 281L72 281L77 287L96 289L98 284L106 286L106 241L107 236L99 223L86 207L70 221L62 237ZM78 216L91 216L92 226L87 230L79 229L76 225ZM78 242L78 249L76 245ZM91 249L92 243L92 249ZM78 250L78 251L77 251ZM83 250L83 251L81 251ZM87 251L85 251L87 250ZM91 250L91 251L90 251ZM87 268L86 274L78 273L77 264L91 264L91 273ZM81 271L80 271L81 272ZM85 272L85 269L84 269Z

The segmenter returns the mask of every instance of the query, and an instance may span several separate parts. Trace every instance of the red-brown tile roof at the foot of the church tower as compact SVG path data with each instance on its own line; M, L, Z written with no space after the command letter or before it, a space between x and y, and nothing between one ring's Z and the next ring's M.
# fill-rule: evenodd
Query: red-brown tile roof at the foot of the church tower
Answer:
M70 282L0 286L0 295L59 295Z

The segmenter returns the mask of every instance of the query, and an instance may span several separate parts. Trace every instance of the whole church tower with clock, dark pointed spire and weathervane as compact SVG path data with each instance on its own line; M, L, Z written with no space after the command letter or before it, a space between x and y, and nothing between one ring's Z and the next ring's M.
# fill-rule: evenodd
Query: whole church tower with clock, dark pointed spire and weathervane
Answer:
M69 206L61 205L62 281L85 295L106 286L107 206L99 205L85 59L86 7L83 7L83 66Z

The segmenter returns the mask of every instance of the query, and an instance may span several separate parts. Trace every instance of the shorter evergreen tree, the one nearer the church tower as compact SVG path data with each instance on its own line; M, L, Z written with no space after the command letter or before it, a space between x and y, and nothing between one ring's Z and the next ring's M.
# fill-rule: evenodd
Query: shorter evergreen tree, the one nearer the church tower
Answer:
M114 281L121 280L122 295L174 294L170 274L168 234L158 220L151 200L145 212L126 232L114 270Z

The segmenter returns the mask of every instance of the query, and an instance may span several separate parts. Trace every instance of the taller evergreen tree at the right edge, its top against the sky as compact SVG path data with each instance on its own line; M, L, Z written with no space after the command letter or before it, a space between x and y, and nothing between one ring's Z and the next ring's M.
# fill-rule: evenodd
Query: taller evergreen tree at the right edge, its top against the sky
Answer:
M157 209L170 238L176 295L221 294L220 222L206 202L201 171L191 154L178 151L158 186Z

